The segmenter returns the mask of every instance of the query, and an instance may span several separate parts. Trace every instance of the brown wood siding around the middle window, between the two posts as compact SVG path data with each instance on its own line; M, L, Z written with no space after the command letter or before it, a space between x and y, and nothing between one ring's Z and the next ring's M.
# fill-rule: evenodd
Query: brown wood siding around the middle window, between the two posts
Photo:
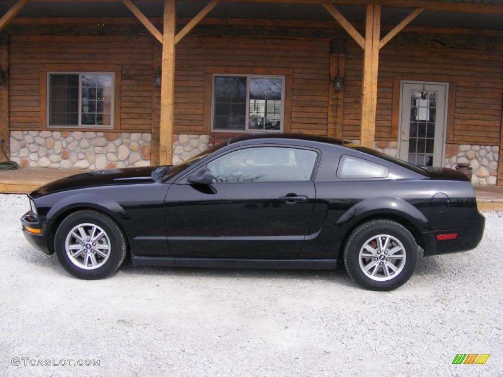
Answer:
M204 74L246 74L250 69L293 70L291 132L326 135L329 42L271 38L188 36L176 48L175 132L207 133L203 127ZM288 111L288 109L285 109Z

